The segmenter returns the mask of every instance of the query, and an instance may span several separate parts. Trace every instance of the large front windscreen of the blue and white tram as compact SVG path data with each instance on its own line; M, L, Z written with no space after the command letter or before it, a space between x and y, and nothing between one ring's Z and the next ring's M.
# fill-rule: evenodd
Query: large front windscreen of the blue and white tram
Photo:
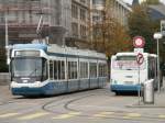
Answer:
M12 77L41 78L45 74L44 58L16 57L12 59Z

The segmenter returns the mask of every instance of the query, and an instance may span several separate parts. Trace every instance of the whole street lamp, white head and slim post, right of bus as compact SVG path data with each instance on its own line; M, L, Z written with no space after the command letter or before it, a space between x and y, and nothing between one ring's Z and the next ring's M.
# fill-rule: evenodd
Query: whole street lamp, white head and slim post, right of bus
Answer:
M154 33L154 38L157 41L157 81L158 81L158 92L161 91L161 81L160 81L160 43L158 40L162 38L162 33Z

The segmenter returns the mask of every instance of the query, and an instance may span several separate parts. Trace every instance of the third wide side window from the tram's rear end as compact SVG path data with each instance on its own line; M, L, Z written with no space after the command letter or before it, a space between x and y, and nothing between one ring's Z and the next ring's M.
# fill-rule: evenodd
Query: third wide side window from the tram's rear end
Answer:
M80 78L88 78L88 63L80 62Z

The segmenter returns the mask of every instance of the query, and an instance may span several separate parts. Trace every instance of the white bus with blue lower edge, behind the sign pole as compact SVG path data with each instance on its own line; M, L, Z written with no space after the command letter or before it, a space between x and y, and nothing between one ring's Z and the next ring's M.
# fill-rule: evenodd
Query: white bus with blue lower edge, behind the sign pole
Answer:
M154 79L154 87L157 88L157 56L143 53L143 57L144 62L140 68L136 63L136 53L117 53L111 57L111 91L116 93L138 91L141 85L150 79Z

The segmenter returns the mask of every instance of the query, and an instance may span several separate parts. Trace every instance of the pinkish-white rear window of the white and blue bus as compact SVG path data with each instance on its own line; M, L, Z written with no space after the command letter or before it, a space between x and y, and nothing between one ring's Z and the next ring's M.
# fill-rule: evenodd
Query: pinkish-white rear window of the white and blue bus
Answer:
M117 56L112 63L114 69L120 70L138 70L139 65L136 63L136 56ZM145 68L145 62L140 66L140 69Z

